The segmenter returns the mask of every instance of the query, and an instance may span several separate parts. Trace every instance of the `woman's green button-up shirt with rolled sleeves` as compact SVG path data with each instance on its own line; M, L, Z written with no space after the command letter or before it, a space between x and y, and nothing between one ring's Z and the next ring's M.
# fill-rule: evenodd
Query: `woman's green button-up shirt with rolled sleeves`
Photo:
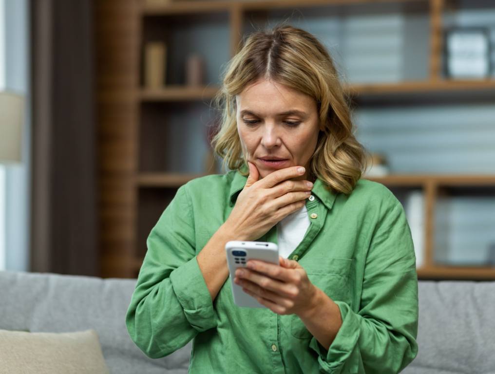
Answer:
M321 180L306 200L310 226L289 256L340 308L329 350L296 315L240 308L231 280L215 300L196 256L225 222L247 177L237 171L194 179L151 230L126 315L149 357L191 339L190 373L398 373L418 351L418 282L402 205L384 185L361 179L349 195ZM313 215L313 217L315 217ZM276 225L258 241L277 242Z

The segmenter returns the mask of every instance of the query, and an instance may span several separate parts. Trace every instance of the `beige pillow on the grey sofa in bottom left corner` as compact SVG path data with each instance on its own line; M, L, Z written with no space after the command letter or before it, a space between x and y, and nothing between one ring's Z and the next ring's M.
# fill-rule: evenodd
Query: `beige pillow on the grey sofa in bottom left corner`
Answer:
M26 332L0 329L0 374L108 374L95 330Z

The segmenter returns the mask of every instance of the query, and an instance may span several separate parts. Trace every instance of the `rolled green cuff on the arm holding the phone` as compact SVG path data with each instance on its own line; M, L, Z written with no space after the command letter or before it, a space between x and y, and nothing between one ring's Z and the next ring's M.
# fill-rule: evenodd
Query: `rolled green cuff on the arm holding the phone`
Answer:
M314 336L309 342L309 347L318 354L318 363L325 373L341 373L344 366L349 369L356 369L359 366L359 358L353 357L356 353L358 354L355 347L359 338L359 317L347 303L334 302L339 306L342 326L330 344L330 349L327 351ZM354 373L352 370L349 372Z

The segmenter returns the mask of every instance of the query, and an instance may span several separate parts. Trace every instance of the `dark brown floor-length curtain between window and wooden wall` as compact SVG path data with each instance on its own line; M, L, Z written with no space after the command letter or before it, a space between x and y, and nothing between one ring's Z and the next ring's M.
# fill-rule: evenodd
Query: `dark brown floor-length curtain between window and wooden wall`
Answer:
M31 271L99 275L93 3L31 0Z

